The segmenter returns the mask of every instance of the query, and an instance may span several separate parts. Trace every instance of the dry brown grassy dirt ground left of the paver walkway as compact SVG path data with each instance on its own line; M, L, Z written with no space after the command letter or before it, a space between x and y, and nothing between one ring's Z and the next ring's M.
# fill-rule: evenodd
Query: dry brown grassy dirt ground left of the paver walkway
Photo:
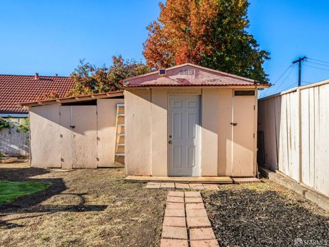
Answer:
M0 180L53 183L0 207L0 246L159 246L167 191L125 183L123 172L0 165Z

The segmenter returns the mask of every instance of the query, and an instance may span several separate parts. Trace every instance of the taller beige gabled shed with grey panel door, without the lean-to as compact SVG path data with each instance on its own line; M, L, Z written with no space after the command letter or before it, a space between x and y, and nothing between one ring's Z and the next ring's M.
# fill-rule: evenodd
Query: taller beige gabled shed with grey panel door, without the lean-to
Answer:
M256 176L257 89L268 84L182 64L123 86L126 175Z

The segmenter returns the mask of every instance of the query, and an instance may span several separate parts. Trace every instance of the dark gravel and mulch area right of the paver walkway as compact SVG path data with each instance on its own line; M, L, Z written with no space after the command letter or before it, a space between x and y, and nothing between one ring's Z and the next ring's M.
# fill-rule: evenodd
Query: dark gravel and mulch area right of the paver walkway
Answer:
M329 246L329 212L262 182L202 193L219 246Z

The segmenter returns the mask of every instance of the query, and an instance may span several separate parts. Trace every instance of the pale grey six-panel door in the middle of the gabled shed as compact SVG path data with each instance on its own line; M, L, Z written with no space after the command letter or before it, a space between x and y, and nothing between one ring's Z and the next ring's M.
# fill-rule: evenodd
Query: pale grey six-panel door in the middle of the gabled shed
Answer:
M170 95L168 134L169 176L200 176L199 95Z

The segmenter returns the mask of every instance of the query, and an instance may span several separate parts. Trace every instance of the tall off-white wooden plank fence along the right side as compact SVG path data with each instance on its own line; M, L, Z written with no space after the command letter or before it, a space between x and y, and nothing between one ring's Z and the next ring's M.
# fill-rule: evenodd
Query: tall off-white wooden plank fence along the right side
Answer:
M329 196L329 80L258 99L258 132L258 163Z

